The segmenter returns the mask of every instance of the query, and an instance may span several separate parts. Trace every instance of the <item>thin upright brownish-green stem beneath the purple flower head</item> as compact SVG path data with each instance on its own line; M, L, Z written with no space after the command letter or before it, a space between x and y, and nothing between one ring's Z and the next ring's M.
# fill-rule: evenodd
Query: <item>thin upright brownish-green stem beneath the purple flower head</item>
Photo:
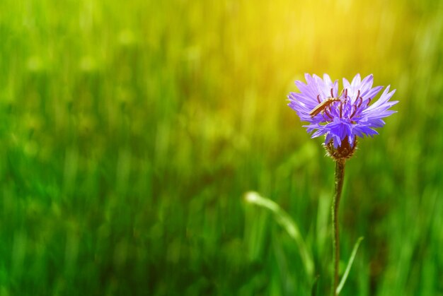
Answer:
M345 159L339 158L338 160L335 161L335 192L331 208L332 227L333 227L333 261L334 261L333 290L331 292L331 295L333 296L337 295L337 286L338 286L338 263L340 262L338 206L340 205L340 196L342 195L343 179L345 179Z

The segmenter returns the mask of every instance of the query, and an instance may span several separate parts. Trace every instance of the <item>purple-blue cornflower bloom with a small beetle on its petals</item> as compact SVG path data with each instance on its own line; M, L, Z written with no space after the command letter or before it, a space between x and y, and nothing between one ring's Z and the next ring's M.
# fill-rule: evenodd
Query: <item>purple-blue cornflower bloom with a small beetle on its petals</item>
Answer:
M384 126L384 117L395 113L389 110L398 101L389 101L396 90L389 92L389 86L379 100L374 97L383 86L372 88L374 77L371 75L361 80L357 74L352 83L343 78L343 90L338 91L338 81L331 81L328 74L323 79L316 75L305 74L306 84L295 81L300 93L288 95L288 106L297 112L302 122L309 122L305 127L312 138L326 135L325 145L333 143L333 148L340 146L355 148L356 136L374 136L374 128Z

